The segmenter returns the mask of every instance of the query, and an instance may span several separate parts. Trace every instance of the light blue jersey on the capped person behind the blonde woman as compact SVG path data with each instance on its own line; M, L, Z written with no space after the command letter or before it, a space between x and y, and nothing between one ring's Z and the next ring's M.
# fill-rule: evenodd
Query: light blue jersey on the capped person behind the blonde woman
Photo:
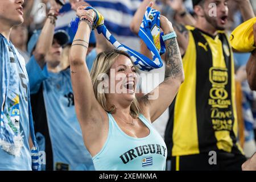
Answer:
M75 113L70 69L59 73L47 72L32 56L27 64L31 92L43 84L44 105L53 153L53 168L65 164L69 170L94 170L92 157L84 146L82 131ZM32 75L32 73L36 73ZM32 85L33 84L33 85ZM47 155L47 154L46 154Z

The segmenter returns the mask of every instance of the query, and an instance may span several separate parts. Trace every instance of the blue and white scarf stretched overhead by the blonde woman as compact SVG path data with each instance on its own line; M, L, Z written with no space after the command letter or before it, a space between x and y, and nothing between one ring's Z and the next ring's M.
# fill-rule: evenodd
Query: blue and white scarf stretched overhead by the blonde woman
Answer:
M113 46L119 50L129 53L133 63L142 71L150 71L152 69L161 68L163 62L160 55L165 52L165 46L162 39L163 32L160 32L160 13L159 11L148 7L139 29L139 36L143 42L147 45L147 48L151 51L152 60L142 55L141 53L134 51L133 49L119 43L112 34L108 31L108 28L104 25L103 16L98 13L93 7L86 7L85 10L93 9L96 12L96 20L94 20L94 28L97 28L98 34L103 34L106 39L109 40ZM71 22L71 28L76 33L79 17Z

